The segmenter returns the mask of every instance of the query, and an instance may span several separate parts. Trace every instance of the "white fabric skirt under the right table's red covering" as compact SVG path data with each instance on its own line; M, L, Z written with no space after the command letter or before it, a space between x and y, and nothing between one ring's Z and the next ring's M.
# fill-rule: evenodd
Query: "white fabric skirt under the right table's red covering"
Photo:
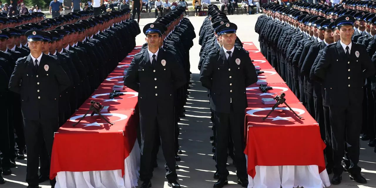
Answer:
M317 165L256 166L256 176L248 175L248 188L324 188L330 186L326 170L318 173Z

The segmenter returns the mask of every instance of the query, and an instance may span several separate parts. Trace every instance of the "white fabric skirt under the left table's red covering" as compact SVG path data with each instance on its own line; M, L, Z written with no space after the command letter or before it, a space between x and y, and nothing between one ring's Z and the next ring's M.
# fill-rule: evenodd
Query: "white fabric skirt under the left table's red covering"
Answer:
M135 188L138 186L140 157L136 139L132 151L124 160L124 177L121 177L121 170L62 171L56 176L55 188Z

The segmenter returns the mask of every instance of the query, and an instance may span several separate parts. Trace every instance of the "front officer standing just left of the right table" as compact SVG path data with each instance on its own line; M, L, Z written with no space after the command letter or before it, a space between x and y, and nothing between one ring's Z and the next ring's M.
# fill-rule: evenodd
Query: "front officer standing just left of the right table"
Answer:
M214 111L216 152L219 180L214 187L228 183L226 169L227 146L231 136L237 167L238 183L248 186L244 151L244 111L247 107L246 87L257 81L255 66L249 54L235 48L237 26L224 23L216 29L222 47L208 57L200 72L202 86L209 89L210 105Z

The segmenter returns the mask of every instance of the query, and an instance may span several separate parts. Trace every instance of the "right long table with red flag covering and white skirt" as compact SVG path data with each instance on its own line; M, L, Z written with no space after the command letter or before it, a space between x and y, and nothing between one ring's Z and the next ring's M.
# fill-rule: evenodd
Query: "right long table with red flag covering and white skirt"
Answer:
M249 188L323 188L330 186L325 169L320 128L299 99L288 88L253 42L244 42L253 64L264 73L258 75L258 84L273 89L266 93L258 84L247 87L248 108L245 117L245 138ZM286 94L288 105L302 119L296 117L286 105L279 105L270 116L262 120L274 105L264 105L262 98Z

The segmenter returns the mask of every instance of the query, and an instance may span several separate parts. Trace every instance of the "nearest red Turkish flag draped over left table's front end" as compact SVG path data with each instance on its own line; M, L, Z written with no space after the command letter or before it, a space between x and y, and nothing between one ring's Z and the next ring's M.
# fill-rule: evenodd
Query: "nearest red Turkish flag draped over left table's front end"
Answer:
M88 114L73 127L84 111L76 112L58 132L53 142L50 178L60 171L98 171L122 169L136 140L138 115L133 110Z

